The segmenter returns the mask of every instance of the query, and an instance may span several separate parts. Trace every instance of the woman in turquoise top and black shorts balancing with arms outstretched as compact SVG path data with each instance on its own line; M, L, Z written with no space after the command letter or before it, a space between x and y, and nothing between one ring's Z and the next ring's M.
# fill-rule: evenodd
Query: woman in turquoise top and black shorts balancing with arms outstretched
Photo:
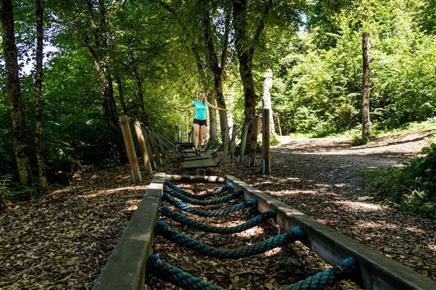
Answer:
M174 108L195 108L195 116L194 116L194 146L195 146L195 155L201 155L201 144L203 143L203 134L206 131L206 127L208 126L206 122L206 108L214 108L215 110L224 110L224 108L218 108L217 106L213 106L206 101L206 94L203 90L200 90L197 95L197 101L192 101L191 104L185 106L176 106Z

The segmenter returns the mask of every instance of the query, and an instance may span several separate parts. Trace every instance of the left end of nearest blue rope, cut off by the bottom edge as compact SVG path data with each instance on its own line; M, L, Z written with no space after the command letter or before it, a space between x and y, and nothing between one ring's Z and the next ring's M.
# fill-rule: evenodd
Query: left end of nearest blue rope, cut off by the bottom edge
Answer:
M206 290L221 290L221 287L212 285L200 278L192 276L190 273L183 272L177 267L172 267L170 264L163 262L156 254L149 255L147 260L147 274L154 274L154 276L161 280L170 282L177 287L184 289L206 289Z

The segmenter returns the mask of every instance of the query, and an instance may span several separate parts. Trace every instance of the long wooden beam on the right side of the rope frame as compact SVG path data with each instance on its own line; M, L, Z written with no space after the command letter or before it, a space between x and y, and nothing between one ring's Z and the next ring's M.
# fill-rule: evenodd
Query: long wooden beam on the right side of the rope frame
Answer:
M301 226L305 233L305 240L302 242L329 264L337 265L344 258L354 257L360 270L354 282L364 289L436 289L436 282L430 278L365 247L291 206L275 200L270 195L254 189L236 177L226 176L226 183L229 182L233 183L235 191L244 189L246 200L254 197L259 211L271 209L275 212L275 222L280 228L291 231L294 226Z

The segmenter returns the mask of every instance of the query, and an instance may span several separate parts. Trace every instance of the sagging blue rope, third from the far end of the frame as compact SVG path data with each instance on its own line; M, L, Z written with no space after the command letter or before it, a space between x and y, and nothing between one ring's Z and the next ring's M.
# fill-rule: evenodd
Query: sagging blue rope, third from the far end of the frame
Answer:
M188 204L184 204L183 202L170 197L170 195L168 195L168 193L163 193L162 200L169 202L173 206L176 206L176 208L181 209L182 211L186 211L186 212L192 213L194 215L200 215L202 217L217 217L220 215L226 215L228 213L233 213L234 211L240 211L240 210L245 209L246 207L249 207L249 206L256 207L256 204L257 204L256 200L254 198L252 198L248 202L239 202L239 204L235 204L233 206L228 206L225 209L219 209L217 211L202 211L201 209L192 208L192 207L188 206Z

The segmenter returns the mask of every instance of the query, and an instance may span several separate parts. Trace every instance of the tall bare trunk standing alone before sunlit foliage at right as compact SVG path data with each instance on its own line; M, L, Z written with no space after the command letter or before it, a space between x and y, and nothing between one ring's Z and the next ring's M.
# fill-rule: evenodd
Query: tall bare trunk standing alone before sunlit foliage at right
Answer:
M370 34L362 37L363 50L363 96L362 96L362 137L369 138L370 132Z

